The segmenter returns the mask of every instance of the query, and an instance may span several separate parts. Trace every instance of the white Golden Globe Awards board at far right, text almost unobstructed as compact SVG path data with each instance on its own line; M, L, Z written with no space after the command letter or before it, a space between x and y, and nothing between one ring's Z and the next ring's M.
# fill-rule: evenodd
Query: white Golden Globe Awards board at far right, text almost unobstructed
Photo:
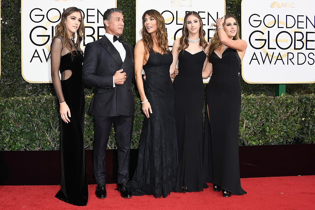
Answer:
M248 83L315 82L315 1L242 1Z

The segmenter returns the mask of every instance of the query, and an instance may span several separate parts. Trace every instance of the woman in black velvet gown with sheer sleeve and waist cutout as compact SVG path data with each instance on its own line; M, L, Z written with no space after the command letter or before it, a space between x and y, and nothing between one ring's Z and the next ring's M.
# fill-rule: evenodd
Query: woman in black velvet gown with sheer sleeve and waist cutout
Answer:
M73 38L77 32L77 41ZM61 189L56 198L76 206L88 202L84 154L84 87L81 70L84 37L82 14L76 7L66 9L55 27L51 43L51 78L61 116ZM61 74L61 81L59 77Z

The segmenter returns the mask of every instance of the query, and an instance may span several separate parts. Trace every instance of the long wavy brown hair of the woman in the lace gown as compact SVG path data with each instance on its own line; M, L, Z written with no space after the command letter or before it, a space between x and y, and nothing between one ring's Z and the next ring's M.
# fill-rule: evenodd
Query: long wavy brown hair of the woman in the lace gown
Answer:
M162 14L156 11L155 9L149 9L145 11L144 14L142 15L142 29L140 33L142 36L142 41L144 42L145 49L154 52L152 36L146 31L146 26L144 24L144 17L146 16L146 14L150 15L152 18L154 18L157 21L157 31L155 32L156 37L157 37L157 47L161 49L162 54L167 53L169 43L167 41L167 31L165 28L165 20Z

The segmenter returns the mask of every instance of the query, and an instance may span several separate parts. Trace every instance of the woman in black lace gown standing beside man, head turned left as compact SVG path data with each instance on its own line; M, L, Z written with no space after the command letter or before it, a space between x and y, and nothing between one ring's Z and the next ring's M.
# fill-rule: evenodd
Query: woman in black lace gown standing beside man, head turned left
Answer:
M163 16L154 9L142 16L142 39L135 46L135 78L146 118L140 136L132 195L166 197L174 191L177 171L174 90L170 75L173 57L168 50ZM146 72L143 85L142 67Z

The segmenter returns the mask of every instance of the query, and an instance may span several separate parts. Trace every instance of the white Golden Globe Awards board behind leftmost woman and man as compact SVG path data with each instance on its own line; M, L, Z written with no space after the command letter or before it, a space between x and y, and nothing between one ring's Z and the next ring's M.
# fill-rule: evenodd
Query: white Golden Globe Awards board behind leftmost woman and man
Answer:
M85 42L100 39L104 33L103 14L117 7L116 0L21 0L22 76L27 82L51 82L49 51L54 26L68 7L81 10L85 26Z

